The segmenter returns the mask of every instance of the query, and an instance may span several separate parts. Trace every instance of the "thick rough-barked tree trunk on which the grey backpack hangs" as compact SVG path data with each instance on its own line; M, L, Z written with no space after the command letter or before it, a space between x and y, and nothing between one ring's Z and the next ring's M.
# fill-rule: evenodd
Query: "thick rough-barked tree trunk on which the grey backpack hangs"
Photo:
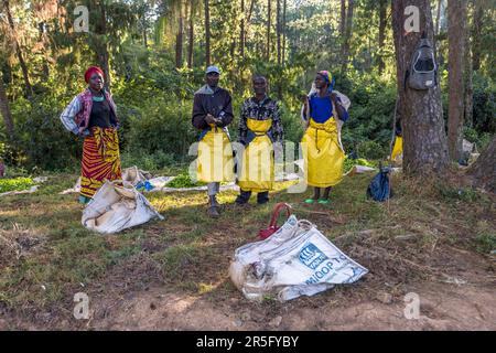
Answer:
M393 0L392 29L396 47L399 116L403 136L403 171L407 174L441 172L449 164L448 141L444 131L441 90L439 85L429 90L405 87L406 72L421 38L421 33L405 32L405 9L420 9L420 28L432 42L434 28L429 0Z

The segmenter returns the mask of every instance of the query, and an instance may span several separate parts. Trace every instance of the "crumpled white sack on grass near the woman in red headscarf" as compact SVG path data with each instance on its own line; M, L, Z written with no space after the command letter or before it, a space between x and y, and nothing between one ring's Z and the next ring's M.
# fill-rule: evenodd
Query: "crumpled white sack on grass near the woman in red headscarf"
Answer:
M134 186L119 181L106 181L83 211L82 223L98 233L117 233L122 229L163 217Z

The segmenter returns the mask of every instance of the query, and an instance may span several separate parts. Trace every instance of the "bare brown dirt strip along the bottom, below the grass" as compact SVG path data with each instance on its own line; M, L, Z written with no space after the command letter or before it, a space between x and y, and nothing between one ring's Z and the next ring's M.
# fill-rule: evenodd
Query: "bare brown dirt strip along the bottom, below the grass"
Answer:
M138 274L153 278L157 270L143 261L138 256L112 269L89 290L88 320L74 319L66 302L31 318L7 314L0 329L496 330L494 258L451 246L435 257L442 267L439 275L389 284L371 267L358 284L285 303L249 302L228 278L207 295L181 292L154 280L141 282ZM407 295L419 298L417 317L406 309L411 303Z

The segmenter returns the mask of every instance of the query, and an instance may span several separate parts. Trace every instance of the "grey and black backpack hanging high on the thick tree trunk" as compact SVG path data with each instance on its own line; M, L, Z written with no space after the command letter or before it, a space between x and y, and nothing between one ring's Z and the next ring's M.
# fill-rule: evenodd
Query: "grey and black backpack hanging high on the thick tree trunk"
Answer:
M438 85L438 64L434 57L434 47L422 35L413 52L410 69L407 71L408 86L412 89L425 90Z

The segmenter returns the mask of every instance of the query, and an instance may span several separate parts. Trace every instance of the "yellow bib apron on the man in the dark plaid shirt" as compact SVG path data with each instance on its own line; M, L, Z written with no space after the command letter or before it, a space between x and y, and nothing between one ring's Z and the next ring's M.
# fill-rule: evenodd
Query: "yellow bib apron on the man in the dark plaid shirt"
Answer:
M255 133L242 153L241 172L238 185L242 191L266 192L273 189L273 146L267 131L272 119L256 120L248 118L247 127Z

